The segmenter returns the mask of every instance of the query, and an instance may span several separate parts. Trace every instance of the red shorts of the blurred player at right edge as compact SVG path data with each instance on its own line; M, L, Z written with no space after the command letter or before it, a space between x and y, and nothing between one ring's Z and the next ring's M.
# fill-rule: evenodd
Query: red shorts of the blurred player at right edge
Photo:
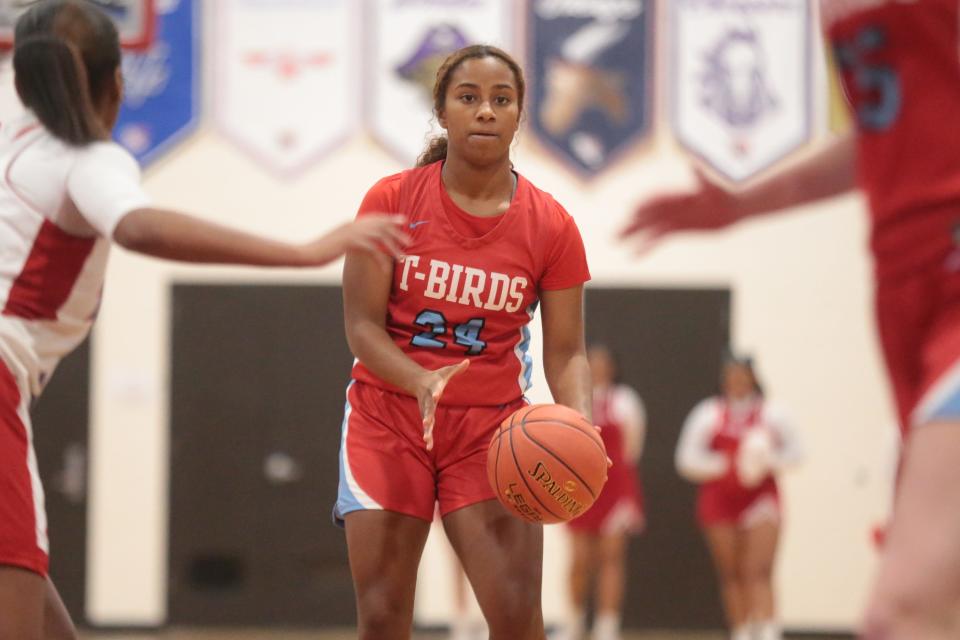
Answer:
M960 420L960 261L881 280L876 312L901 430Z

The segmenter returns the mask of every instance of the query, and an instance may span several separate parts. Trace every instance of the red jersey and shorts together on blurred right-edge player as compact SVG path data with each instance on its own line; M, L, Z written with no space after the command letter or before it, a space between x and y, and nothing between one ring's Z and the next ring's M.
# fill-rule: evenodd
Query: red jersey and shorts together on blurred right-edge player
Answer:
M960 418L960 2L822 0L873 217L902 428Z

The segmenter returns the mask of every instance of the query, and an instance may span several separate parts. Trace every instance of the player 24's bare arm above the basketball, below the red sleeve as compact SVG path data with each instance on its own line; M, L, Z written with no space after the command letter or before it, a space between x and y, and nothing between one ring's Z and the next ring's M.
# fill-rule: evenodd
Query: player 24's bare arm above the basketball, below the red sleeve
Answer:
M591 378L583 337L583 285L542 291L543 371L553 399L591 416Z

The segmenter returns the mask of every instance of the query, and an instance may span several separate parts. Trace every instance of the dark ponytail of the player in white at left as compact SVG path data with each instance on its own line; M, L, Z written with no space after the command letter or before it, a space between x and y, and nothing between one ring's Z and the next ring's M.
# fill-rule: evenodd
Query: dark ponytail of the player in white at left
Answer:
M90 98L76 47L56 36L18 40L13 53L17 93L53 136L72 146L108 138Z

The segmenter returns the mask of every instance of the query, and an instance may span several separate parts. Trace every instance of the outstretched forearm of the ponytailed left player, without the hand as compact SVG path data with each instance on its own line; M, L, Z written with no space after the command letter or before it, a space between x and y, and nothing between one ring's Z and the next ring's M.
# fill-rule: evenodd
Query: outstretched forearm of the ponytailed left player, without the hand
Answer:
M302 266L306 262L299 245L172 211L133 211L120 220L113 237L130 251L181 262L275 267Z

